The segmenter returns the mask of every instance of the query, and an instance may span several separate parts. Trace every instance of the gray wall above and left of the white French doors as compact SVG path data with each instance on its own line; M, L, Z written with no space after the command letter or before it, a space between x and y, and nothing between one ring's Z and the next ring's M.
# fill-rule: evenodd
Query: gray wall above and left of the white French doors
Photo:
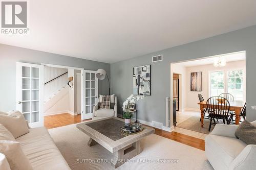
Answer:
M110 64L108 63L0 44L0 111L16 109L16 62L48 63L88 70L103 68L110 74ZM99 94L108 93L108 80L99 80Z

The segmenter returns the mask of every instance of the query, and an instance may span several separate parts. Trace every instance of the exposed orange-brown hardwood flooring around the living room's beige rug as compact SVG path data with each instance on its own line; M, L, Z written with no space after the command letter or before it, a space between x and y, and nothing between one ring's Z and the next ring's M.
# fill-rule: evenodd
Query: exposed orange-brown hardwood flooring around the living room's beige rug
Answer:
M45 127L47 129L51 129L51 128L70 125L70 124L86 122L89 120L81 121L81 115L72 116L69 113L56 114L56 115L45 116ZM157 128L155 128L155 134L204 151L205 143L203 139L191 137L191 136L184 135L177 132L167 132Z

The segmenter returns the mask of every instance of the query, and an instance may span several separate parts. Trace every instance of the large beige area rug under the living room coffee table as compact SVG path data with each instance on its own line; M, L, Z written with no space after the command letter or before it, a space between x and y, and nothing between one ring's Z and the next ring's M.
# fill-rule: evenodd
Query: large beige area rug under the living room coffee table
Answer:
M76 125L50 129L49 133L71 169L114 169L110 163L112 154L100 144L89 147L89 136L78 130ZM213 169L204 151L155 134L143 138L141 147L142 153L117 169ZM172 160L178 160L178 163L172 163Z

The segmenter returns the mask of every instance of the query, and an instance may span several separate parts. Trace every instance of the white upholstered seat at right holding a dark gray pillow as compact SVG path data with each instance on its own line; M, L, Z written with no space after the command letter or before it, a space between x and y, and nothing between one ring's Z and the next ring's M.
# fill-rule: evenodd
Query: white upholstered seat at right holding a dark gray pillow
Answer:
M256 121L251 123L256 127ZM236 138L239 125L217 124L205 138L205 155L215 170L256 169L256 145Z

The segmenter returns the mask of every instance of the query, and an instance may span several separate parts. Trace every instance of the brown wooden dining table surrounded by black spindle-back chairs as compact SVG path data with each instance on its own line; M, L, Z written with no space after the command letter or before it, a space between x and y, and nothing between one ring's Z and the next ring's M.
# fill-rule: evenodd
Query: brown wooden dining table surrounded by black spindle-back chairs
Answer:
M204 109L207 108L206 101L199 102L200 110L201 110L201 127L204 127ZM236 114L236 125L239 125L240 121L240 113L243 108L243 101L233 101L229 102L229 111L234 111Z

